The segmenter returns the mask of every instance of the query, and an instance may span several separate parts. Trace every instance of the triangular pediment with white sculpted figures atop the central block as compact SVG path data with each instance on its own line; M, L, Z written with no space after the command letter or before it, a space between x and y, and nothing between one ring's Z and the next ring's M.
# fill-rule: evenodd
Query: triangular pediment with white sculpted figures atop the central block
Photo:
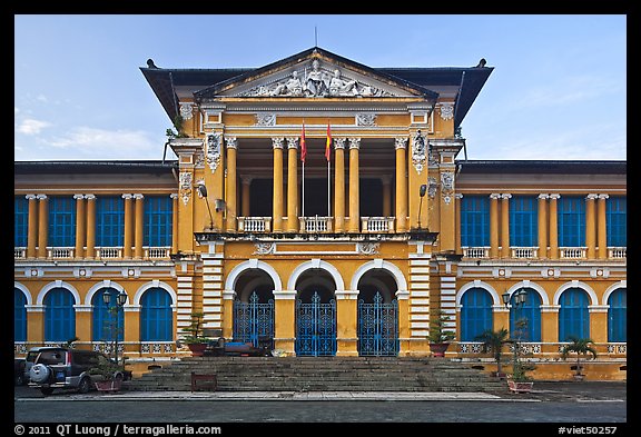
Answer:
M421 86L319 48L250 70L195 93L216 98L436 98Z

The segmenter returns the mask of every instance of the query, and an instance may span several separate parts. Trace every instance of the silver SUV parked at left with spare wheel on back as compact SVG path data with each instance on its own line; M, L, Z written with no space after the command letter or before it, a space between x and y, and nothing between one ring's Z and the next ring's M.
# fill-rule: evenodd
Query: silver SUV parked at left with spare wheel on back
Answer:
M88 393L101 379L100 375L90 375L89 370L110 361L105 354L93 350L42 347L37 352L29 369L29 387L39 388L43 395L51 395L56 388ZM129 371L116 371L114 377L125 380L130 375Z

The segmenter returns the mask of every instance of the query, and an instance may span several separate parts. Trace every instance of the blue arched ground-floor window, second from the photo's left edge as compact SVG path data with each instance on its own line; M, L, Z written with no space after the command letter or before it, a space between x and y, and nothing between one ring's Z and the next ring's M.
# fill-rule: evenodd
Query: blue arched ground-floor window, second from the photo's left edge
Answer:
M45 297L45 341L67 341L76 337L73 295L66 288L53 288Z

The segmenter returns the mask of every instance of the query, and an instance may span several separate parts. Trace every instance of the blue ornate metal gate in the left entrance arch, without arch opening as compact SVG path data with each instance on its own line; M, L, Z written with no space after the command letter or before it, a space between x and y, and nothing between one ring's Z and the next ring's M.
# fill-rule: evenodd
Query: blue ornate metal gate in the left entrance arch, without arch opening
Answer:
M258 304L258 295L254 291L248 302L234 302L234 341L274 348L274 299Z

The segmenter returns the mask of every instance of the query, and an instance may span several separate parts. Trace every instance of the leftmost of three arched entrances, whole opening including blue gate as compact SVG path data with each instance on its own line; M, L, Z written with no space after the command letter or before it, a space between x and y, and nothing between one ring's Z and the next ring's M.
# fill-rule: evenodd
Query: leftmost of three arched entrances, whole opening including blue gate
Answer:
M236 281L234 341L274 348L274 281L260 269L247 269Z

